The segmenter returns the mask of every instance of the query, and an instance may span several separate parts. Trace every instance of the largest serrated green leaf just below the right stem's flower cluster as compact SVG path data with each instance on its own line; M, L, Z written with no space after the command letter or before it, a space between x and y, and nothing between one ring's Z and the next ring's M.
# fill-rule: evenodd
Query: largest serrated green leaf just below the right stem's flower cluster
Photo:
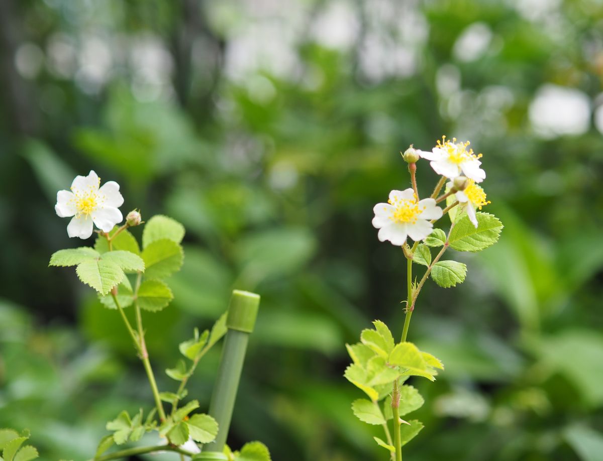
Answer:
M457 251L481 251L497 242L502 223L496 216L489 213L475 213L478 227L469 221L469 216L463 216L450 232L450 247Z

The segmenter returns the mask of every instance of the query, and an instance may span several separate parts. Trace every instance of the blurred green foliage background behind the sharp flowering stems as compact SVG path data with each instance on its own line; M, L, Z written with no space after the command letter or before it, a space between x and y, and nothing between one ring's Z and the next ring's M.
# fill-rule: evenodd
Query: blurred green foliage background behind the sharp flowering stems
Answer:
M145 316L160 389L192 327L254 290L229 443L387 459L344 343L402 331L405 260L372 208L409 187L399 152L446 134L484 153L505 229L449 255L465 283L421 293L409 339L446 370L412 382L426 427L405 459L603 459L602 78L600 0L2 0L0 427L87 459L119 410L152 406L115 311L47 268L93 243L53 207L94 169L124 213L186 226L175 301ZM420 191L435 180L421 163ZM218 360L191 380L205 408Z

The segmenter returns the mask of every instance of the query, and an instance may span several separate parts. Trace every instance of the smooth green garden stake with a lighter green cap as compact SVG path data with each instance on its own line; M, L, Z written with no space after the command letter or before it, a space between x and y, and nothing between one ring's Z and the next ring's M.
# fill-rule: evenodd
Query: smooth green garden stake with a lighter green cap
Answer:
M256 293L239 290L232 292L226 317L228 331L209 404L209 414L218 421L218 436L212 443L204 445L203 451L224 450L245 360L245 350L247 350L249 334L256 323L259 303L260 296Z

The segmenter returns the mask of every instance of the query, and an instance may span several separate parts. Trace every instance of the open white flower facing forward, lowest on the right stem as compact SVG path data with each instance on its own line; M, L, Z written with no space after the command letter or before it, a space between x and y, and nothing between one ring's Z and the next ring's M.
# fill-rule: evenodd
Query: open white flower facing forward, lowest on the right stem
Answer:
M442 217L442 209L434 199L417 201L412 189L392 190L388 203L377 203L373 212L379 240L390 240L397 246L404 245L407 236L415 241L425 239L434 227L429 220Z

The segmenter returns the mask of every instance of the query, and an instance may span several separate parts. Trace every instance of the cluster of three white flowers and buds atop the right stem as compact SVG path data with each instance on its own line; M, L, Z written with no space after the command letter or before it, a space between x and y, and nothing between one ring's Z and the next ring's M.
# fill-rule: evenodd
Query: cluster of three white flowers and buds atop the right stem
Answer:
M431 151L421 151L411 146L404 152L403 157L411 164L413 187L392 190L387 203L374 206L373 226L379 229L378 237L381 242L389 240L393 245L402 246L408 237L415 242L425 240L431 234L433 223L440 219L444 212L437 203L451 195L458 201L458 206L467 213L472 224L478 227L475 210L490 202L486 200L484 189L478 185L486 177L479 160L482 154L475 154L473 149L469 148L469 141L457 142L456 138L451 141L443 136ZM441 198L436 197L440 192L437 189L430 198L419 200L414 181L414 163L420 158L429 160L431 168L442 176L442 180L450 180L447 183L447 192Z

